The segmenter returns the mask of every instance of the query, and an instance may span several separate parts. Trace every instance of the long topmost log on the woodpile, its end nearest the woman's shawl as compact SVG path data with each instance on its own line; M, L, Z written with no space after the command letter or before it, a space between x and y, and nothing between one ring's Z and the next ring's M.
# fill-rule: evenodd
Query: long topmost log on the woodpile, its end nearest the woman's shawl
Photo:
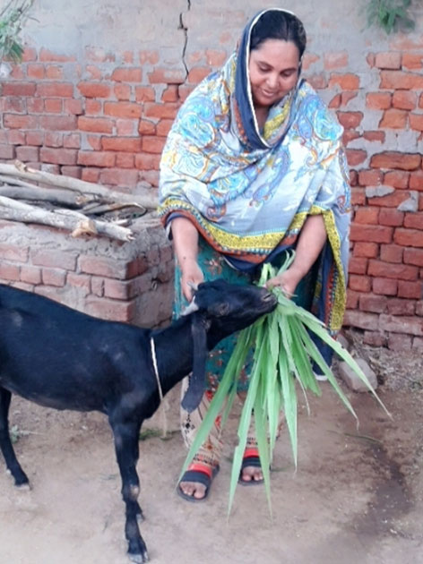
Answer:
M17 176L25 180L66 188L67 190L81 192L82 194L96 194L101 196L105 201L134 202L147 209L156 209L158 205L158 199L154 193L143 195L125 194L124 192L110 190L99 184L92 184L84 180L79 180L78 178L73 178L73 176L53 175L41 170L35 170L26 167L26 165L19 161L15 161L14 165L0 163L0 175Z

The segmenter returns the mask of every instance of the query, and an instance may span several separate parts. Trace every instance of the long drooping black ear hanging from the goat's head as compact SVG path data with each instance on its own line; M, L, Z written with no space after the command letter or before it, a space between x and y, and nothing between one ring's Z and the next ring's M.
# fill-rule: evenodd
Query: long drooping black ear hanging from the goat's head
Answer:
M190 376L186 395L182 399L182 407L191 413L202 400L205 388L205 362L207 359L207 329L203 318L194 315L191 325L194 343L193 372Z

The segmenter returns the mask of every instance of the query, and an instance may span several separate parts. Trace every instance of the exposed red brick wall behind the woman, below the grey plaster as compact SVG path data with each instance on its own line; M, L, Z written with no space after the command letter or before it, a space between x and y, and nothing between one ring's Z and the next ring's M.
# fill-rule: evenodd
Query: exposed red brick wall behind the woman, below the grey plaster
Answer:
M28 48L1 84L0 158L126 191L157 186L177 108L233 44L222 33L213 48L187 49L184 65L159 49ZM345 128L351 170L345 323L368 343L423 348L423 42L401 36L354 56L317 47L312 40L304 73Z

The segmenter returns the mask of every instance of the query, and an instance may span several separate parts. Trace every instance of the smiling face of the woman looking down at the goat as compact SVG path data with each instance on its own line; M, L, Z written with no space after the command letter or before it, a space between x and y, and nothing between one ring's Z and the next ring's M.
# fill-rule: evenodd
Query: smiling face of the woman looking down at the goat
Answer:
M299 51L292 41L266 39L250 52L248 70L255 107L279 102L298 80Z

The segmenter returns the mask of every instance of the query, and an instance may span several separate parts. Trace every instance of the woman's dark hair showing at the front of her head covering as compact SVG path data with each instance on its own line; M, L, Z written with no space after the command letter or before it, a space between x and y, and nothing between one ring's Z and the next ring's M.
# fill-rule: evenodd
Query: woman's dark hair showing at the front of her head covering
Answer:
M292 41L299 51L299 58L306 49L306 30L298 17L282 10L263 13L251 30L250 51L257 49L266 39Z

